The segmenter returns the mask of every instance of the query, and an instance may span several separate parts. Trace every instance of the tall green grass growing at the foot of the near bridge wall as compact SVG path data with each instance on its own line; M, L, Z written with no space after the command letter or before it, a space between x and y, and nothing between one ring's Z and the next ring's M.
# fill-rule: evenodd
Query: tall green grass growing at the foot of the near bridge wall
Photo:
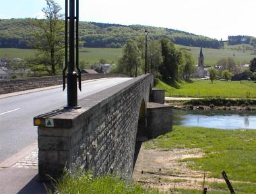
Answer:
M65 172L63 178L55 183L55 193L100 193L100 194L158 194L159 191L144 189L122 180L114 175L93 176L90 173L77 172L71 175Z

